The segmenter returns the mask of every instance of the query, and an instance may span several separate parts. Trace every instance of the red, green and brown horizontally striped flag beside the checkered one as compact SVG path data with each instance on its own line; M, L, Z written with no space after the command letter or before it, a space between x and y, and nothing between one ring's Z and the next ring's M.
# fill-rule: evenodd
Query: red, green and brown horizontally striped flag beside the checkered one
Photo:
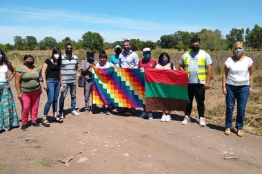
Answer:
M146 111L185 111L188 105L188 72L145 69Z

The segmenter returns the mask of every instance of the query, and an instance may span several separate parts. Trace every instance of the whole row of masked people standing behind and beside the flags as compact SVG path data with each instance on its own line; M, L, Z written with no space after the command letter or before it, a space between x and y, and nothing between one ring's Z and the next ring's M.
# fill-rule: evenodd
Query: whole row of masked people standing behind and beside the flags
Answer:
M123 51L122 51L123 47ZM114 47L116 54L108 56L105 52L99 54L99 61L94 60L94 52L86 52L86 60L81 62L81 75L85 77L84 100L85 114L94 111L97 108L95 105L90 105L90 95L92 94L92 67L109 68L159 68L159 69L174 69L173 63L170 63L170 56L163 52L159 55L159 60L152 58L149 47L143 49L143 58L139 60L137 53L131 50L131 42L123 41L122 47L117 45ZM197 111L199 115L199 125L205 126L205 90L209 89L212 78L212 59L210 55L203 50L200 50L201 42L199 37L192 38L191 50L185 52L180 58L178 70L188 72L188 98L189 102L185 110L185 116L181 124L186 125L190 122L192 112L192 102L195 98ZM225 116L225 135L230 135L232 127L232 114L235 100L237 101L236 114L236 129L237 135L243 135L243 122L245 118L245 107L247 105L248 96L253 91L253 61L244 54L244 45L242 42L234 44L232 49L233 56L227 58L222 77L222 91L225 94L226 116ZM41 124L44 127L50 127L50 122L47 119L48 111L52 105L53 120L55 122L63 122L63 107L68 89L71 96L71 113L74 116L80 114L76 109L76 89L77 89L77 69L79 58L72 54L72 45L65 45L65 54L61 54L59 48L52 50L52 56L46 59L41 69L43 78L43 89L46 91L48 100L43 111L43 120ZM11 72L10 77L7 77L8 69ZM1 95L1 110L0 110L0 131L3 129L8 131L10 127L19 126L19 118L10 90L9 82L15 74L15 87L17 96L21 102L21 119L22 130L28 127L28 117L31 114L31 122L34 127L39 127L37 123L38 107L40 95L42 93L39 81L39 73L37 67L34 67L33 56L26 55L23 58L23 66L18 67L15 71L12 64L8 61L6 54L0 50L0 95ZM174 91L175 92L175 91ZM57 103L59 93L59 115L57 116ZM102 106L100 113L110 114L113 106ZM121 112L128 112L128 108L121 108ZM130 109L130 114L135 115L135 108ZM171 111L162 111L161 122L171 120ZM153 119L152 111L146 112L143 108L141 118Z

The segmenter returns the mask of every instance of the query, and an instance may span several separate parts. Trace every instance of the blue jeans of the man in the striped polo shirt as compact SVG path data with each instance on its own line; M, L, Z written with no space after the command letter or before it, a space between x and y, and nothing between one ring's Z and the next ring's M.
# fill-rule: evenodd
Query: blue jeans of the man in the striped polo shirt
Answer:
M68 93L68 88L70 88L71 95L71 111L76 109L77 104L77 83L63 83L63 91L61 91L59 99L59 113L63 113L63 105L65 104L66 94Z

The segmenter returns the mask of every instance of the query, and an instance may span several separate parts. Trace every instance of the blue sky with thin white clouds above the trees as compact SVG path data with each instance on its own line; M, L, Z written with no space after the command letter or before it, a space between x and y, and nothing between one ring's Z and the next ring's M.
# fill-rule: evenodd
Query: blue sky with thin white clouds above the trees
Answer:
M14 36L47 36L74 41L85 32L98 32L105 42L140 39L157 41L179 30L220 30L262 26L261 0L4 0L0 6L0 43Z

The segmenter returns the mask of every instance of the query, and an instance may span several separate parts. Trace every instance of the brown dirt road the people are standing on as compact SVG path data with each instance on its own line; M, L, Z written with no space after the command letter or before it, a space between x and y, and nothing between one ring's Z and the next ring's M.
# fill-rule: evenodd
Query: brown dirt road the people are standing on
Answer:
M12 91L20 115L14 84ZM39 118L45 102L43 92ZM77 107L83 104L83 89L77 89ZM262 139L254 135L226 136L213 124L183 126L183 113L172 114L170 122L160 122L160 112L154 112L154 120L117 111L79 113L68 113L63 124L50 128L0 133L0 173L262 173ZM57 160L79 152L68 167Z

